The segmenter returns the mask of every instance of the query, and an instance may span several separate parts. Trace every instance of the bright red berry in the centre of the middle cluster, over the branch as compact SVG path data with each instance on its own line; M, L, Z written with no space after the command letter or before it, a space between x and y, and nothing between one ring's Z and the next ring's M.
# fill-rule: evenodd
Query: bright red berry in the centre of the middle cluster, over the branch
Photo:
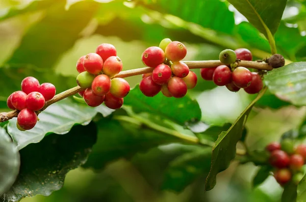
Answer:
M160 64L152 72L152 79L159 85L166 84L171 78L172 72L168 65Z

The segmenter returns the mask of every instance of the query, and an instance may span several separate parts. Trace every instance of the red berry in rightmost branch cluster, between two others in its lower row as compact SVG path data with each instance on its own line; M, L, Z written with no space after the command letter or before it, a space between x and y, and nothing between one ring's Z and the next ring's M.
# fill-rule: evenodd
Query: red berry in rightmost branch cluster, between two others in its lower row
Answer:
M245 67L237 67L232 73L232 81L239 88L246 88L251 84L252 74Z

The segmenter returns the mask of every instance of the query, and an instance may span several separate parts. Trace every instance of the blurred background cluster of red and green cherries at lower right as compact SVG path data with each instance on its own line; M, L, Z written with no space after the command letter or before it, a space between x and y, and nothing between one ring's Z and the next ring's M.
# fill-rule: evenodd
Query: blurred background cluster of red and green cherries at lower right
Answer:
M266 150L270 153L269 163L276 168L275 180L282 186L291 180L298 184L303 178L301 169L306 163L306 145L294 147L290 139L285 139L281 143L270 143Z

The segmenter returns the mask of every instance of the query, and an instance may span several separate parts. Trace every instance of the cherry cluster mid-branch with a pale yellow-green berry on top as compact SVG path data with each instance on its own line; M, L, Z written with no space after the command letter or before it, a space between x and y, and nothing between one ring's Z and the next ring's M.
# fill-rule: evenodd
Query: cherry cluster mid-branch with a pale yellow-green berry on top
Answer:
M144 65L154 69L142 75L140 91L147 97L154 97L160 91L166 97L184 97L197 83L196 74L181 62L186 54L183 43L169 38L163 39L159 47L148 47L141 59Z

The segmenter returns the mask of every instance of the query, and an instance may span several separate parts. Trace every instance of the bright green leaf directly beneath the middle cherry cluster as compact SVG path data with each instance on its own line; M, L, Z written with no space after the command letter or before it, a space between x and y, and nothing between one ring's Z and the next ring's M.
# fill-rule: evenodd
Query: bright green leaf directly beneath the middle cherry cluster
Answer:
M190 97L167 98L162 93L146 97L139 90L139 85L124 98L124 104L132 106L136 113L149 112L180 125L201 119L199 104Z

